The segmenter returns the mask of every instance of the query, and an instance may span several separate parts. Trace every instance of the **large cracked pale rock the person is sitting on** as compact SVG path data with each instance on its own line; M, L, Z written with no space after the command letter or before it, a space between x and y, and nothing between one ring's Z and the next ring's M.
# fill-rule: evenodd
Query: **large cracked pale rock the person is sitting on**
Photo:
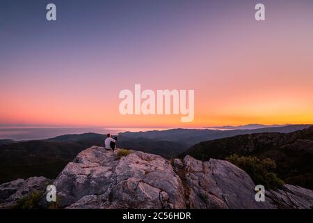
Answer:
M117 157L82 151L54 180L62 208L185 208L184 187L170 162L138 151Z

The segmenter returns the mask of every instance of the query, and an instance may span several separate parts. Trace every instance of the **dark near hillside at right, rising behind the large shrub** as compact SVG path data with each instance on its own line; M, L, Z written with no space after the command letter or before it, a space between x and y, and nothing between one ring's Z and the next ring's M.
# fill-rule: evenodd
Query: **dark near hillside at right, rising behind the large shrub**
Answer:
M271 158L276 174L285 183L313 189L313 126L291 133L264 132L202 141L178 157L191 155L198 160L224 160L233 154Z

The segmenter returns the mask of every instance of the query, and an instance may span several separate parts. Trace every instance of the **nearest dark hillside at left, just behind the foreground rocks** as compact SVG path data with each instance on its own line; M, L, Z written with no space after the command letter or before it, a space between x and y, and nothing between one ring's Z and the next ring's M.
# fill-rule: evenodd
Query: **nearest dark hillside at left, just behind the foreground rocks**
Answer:
M80 151L79 144L24 141L0 146L0 182L29 176L55 178Z

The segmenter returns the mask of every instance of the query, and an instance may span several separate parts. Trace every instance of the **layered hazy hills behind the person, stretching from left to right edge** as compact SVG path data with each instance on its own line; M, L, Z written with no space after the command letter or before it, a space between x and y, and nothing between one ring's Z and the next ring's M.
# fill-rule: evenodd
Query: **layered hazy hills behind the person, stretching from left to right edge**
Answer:
M175 157L190 146L212 139L259 132L294 132L310 125L287 125L256 130L191 130L172 129L148 132L123 132L118 147L129 148L163 157ZM33 141L0 140L0 183L45 176L56 178L77 153L90 146L103 146L105 135L96 133L65 134Z

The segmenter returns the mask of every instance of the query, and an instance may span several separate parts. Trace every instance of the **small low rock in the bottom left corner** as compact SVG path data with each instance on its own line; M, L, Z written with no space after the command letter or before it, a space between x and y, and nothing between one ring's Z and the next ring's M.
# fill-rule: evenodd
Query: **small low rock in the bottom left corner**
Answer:
M45 177L17 179L0 185L0 208L13 208L33 193L43 194L52 180Z

